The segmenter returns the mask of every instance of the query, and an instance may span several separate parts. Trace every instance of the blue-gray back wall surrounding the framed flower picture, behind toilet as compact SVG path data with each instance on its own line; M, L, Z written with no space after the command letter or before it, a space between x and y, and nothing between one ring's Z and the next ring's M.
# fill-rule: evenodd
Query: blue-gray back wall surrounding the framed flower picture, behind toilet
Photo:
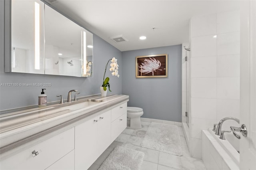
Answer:
M168 77L136 78L135 58L168 54ZM122 52L122 94L129 95L128 106L141 107L142 117L181 122L182 117L182 45Z

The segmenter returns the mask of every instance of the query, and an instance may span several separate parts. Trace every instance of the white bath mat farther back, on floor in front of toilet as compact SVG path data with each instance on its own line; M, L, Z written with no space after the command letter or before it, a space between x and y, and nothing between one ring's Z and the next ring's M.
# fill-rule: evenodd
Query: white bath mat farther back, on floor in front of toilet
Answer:
M180 134L176 125L150 123L141 146L182 156Z

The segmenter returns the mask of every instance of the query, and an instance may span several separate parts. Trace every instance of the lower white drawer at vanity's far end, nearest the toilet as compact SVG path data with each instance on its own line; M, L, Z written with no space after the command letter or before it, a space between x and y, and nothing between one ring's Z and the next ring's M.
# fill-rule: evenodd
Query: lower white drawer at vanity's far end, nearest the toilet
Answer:
M114 122L111 123L111 142L113 142L126 127L127 113L124 113L122 116L118 117Z

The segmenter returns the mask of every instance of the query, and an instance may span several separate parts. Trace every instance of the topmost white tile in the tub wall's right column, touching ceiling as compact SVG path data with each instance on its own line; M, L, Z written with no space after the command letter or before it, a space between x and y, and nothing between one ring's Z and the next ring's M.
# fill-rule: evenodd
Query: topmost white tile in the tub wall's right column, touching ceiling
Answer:
M222 12L217 14L217 33L240 31L239 10Z

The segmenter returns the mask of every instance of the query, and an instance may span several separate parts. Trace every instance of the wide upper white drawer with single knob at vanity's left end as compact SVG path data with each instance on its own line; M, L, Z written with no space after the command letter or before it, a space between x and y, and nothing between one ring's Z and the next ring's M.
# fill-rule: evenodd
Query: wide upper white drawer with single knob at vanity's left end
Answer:
M1 160L0 169L44 170L74 149L74 128ZM33 151L38 155L32 155Z

